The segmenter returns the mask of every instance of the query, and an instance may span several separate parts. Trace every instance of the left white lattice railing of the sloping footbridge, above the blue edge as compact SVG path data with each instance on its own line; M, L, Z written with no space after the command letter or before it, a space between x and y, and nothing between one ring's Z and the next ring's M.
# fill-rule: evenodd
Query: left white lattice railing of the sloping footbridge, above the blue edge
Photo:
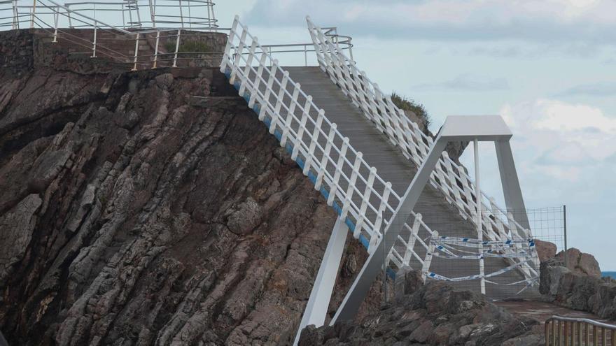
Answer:
M325 39L321 29L314 27L312 31L327 42L327 45L315 47L321 58L324 54L339 55L339 47ZM269 128L269 133L274 134L280 140L281 146L290 152L291 157L302 168L302 173L314 182L315 188L327 199L328 205L335 208L353 232L353 236L367 247L368 252L373 251L400 203L400 196L391 189L391 183L385 182L377 174L377 169L363 159L361 152L352 147L349 139L338 131L335 123L328 120L324 111L314 104L311 96L304 94L301 85L294 82L288 72L281 69L276 59L259 45L258 39L248 32L248 28L239 22L238 17L230 30L221 71L228 75L239 95L248 102L248 106L255 109L259 119ZM415 142L405 143L405 146L408 145L419 147ZM421 150L421 147L418 150ZM423 147L423 150L427 150L426 147ZM470 194L471 190L468 190L468 193ZM399 254L394 249L389 258L393 269L409 266L410 259L416 259L422 266L425 278L430 275L431 252L434 251L421 257L414 250L415 242L426 249L430 248L430 245L417 236L419 229L426 231L434 241L445 240L441 240L438 233L422 221L421 215L409 212L414 217L414 224L405 226L411 230L412 236L409 240L400 238L398 246L405 249L405 254ZM499 244L494 244L500 250L508 246L529 246L526 247L528 253L534 250L534 245L529 243L526 237L516 235L516 240L512 240L504 234L497 235L492 232L490 235L489 240L493 243L502 243L500 247ZM521 269L525 280L535 282L537 272L533 266L526 261L517 261L517 257L513 255L508 259L512 261L511 269ZM498 273L486 275L489 277Z

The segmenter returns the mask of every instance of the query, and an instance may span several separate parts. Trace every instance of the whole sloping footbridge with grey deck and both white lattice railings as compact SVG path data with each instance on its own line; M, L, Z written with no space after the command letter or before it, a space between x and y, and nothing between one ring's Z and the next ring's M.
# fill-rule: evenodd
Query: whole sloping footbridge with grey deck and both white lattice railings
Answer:
M236 17L221 71L372 253L432 141L308 23L321 66L281 68ZM475 257L452 252L469 252L455 241L477 238L477 194L463 168L443 155L414 210L400 211L407 221L398 241L386 245L388 273L410 266L424 280L475 291L485 280L491 298L535 297L538 261L529 231L499 215L493 200L489 207L482 201L485 248L476 246ZM477 256L485 256L485 275Z

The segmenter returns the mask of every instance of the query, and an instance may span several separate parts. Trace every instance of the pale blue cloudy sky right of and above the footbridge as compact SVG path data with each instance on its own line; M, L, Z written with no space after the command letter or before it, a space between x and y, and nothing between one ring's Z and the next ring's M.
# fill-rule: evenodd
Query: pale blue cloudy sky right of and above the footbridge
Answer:
M433 131L447 115L502 115L526 207L566 204L569 246L616 270L616 1L244 0L216 10L223 27L240 15L262 44L309 42L305 15L338 27L358 67L423 103ZM480 149L484 187L502 200L493 147Z

